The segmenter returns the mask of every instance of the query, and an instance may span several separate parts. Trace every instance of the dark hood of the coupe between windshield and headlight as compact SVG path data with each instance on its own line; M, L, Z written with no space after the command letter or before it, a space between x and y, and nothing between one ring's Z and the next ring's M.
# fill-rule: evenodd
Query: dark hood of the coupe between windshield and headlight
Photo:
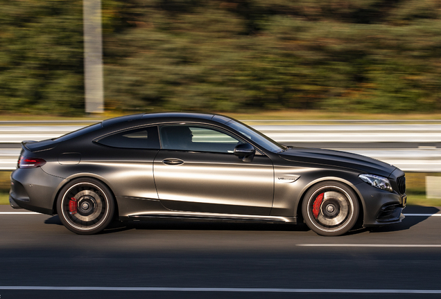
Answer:
M288 161L350 168L358 172L388 177L397 167L374 158L331 149L293 147L279 154Z

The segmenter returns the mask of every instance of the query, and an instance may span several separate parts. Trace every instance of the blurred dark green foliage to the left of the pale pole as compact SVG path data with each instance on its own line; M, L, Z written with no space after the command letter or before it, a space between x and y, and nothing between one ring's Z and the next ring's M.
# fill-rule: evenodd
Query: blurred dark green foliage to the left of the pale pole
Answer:
M0 6L0 111L82 114L83 1L2 0ZM112 17L105 12L106 29Z

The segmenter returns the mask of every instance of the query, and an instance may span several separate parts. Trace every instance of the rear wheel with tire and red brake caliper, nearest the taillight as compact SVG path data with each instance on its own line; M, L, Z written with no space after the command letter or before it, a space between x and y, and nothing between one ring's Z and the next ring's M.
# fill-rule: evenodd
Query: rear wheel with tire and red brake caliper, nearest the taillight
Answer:
M114 197L101 181L74 179L60 190L57 212L67 229L78 235L92 235L112 221Z

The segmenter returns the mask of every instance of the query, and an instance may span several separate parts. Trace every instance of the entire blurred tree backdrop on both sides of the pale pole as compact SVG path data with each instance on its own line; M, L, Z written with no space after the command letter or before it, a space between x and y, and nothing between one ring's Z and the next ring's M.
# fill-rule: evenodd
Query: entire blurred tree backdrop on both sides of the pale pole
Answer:
M106 109L441 111L439 0L102 0ZM0 0L0 111L83 114L81 0Z

